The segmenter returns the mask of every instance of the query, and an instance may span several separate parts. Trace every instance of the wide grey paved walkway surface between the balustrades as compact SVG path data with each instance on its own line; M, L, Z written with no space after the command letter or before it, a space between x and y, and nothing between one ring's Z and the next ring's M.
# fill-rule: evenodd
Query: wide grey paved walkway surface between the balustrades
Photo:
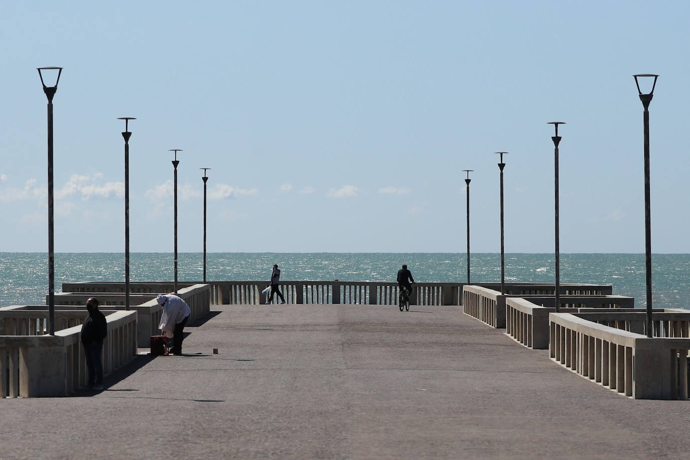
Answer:
M212 310L103 392L0 401L0 459L690 455L687 401L620 397L459 307Z

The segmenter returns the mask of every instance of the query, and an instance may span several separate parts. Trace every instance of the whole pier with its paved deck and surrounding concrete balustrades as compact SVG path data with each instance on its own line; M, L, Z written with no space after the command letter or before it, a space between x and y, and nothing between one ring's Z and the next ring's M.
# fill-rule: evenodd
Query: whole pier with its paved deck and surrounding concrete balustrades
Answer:
M172 283L65 283L0 308L0 458L684 457L690 312L611 286L180 282L184 356L148 354ZM83 390L88 297L108 321L105 389ZM214 349L218 350L215 354ZM67 417L67 418L66 418ZM66 423L66 420L68 421ZM27 450L27 446L30 448Z

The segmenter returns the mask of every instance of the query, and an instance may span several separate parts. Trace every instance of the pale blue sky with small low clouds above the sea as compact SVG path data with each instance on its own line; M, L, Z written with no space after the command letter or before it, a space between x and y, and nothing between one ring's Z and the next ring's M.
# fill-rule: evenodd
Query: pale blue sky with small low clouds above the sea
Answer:
M0 6L0 252L46 252L46 97L55 250L687 253L687 1L31 1ZM644 88L643 88L644 89Z

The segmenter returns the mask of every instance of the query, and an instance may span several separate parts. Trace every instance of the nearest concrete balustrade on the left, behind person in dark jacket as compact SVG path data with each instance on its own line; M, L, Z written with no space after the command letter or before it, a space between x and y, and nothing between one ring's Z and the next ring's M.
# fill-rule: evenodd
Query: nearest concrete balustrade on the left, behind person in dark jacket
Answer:
M103 342L103 372L110 374L137 354L137 312L104 314L108 337ZM81 326L59 330L55 336L0 336L0 397L65 396L87 380Z

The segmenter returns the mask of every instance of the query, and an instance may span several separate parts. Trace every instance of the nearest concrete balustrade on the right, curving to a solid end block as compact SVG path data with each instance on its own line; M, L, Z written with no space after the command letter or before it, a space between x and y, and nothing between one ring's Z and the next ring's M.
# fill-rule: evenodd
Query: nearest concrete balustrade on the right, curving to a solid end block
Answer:
M582 377L635 399L688 399L687 337L647 338L569 313L549 313L549 328L551 359Z

